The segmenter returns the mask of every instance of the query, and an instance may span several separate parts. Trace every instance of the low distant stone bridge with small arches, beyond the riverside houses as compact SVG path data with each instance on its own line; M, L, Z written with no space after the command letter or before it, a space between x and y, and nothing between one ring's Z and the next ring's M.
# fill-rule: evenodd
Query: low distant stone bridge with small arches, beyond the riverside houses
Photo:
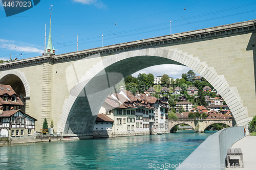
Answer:
M233 119L179 119L169 120L169 131L172 132L175 126L185 124L191 126L196 132L204 132L207 127L213 124L225 124L233 127Z

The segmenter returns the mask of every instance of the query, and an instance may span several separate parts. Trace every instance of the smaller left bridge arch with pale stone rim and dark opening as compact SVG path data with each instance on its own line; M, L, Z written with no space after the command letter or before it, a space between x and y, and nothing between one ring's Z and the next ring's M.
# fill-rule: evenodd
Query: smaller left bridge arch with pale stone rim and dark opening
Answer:
M15 69L3 71L2 74L0 74L0 84L10 85L13 88L24 103L25 107L22 107L21 109L25 111L26 100L29 100L30 96L30 86L25 75Z

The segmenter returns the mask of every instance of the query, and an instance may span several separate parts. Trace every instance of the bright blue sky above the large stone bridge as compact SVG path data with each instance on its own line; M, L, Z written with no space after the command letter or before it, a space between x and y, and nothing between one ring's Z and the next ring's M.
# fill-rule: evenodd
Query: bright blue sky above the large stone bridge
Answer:
M136 41L256 19L255 0L41 0L33 8L7 17L0 1L0 60L41 56L52 5L55 54ZM172 20L172 29L170 29ZM22 54L22 56L20 55ZM181 78L190 68L158 65L139 72Z

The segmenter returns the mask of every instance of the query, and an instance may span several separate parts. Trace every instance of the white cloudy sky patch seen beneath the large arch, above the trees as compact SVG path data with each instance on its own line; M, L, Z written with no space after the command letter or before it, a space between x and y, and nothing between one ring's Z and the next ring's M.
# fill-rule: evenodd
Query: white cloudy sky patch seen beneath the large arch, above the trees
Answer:
M132 76L137 77L139 73L151 73L154 77L163 76L163 74L167 74L172 78L181 78L181 74L187 73L187 71L191 69L187 66L175 65L175 64L163 64L163 65L155 65L151 67L144 68L135 72ZM197 73L196 73L197 74Z

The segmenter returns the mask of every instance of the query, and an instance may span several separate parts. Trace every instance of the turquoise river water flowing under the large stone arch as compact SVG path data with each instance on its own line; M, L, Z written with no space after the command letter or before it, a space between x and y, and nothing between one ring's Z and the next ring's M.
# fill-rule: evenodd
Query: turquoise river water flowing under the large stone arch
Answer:
M0 147L0 169L175 169L172 165L185 160L211 134L186 131L15 144Z

